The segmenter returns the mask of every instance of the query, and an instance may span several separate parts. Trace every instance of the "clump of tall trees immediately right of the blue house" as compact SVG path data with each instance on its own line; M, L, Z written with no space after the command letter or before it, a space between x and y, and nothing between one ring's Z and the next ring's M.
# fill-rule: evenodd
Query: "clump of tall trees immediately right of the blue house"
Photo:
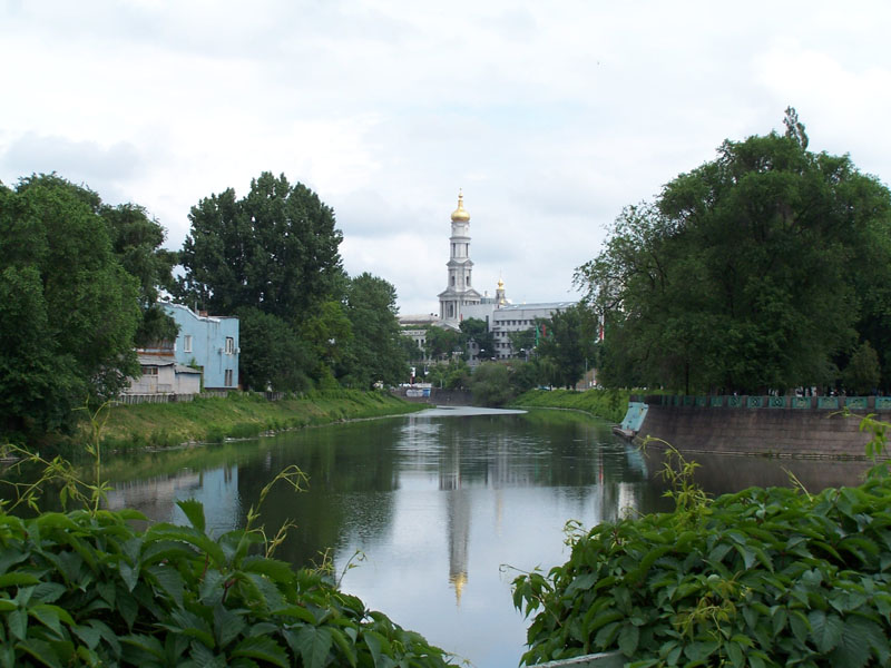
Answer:
M263 173L192 208L177 295L245 322L239 377L252 390L370 387L408 375L395 289L343 272L334 212L303 184Z

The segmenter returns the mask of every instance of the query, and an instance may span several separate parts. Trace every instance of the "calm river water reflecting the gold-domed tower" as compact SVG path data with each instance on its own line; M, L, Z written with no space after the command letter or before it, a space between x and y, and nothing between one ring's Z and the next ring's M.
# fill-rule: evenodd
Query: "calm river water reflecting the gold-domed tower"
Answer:
M712 493L787 484L855 484L861 462L696 455ZM323 554L342 588L479 668L516 667L527 621L511 603L518 572L565 561L564 527L670 509L645 455L576 413L434 409L408 416L106 460L112 508L185 522L195 498L212 532L243 527L260 490L295 464L306 491L276 484L262 518L287 519L276 552L304 566Z

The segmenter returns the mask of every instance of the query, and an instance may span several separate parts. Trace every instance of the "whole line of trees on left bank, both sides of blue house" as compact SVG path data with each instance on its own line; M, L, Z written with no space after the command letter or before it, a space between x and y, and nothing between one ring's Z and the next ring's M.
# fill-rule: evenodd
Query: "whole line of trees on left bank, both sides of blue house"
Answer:
M0 432L70 428L138 375L136 347L173 340L165 295L241 321L254 390L395 383L407 356L394 287L343 269L334 212L264 173L198 202L178 252L145 208L51 175L0 184ZM175 268L179 266L178 271ZM178 274L178 275L177 275Z

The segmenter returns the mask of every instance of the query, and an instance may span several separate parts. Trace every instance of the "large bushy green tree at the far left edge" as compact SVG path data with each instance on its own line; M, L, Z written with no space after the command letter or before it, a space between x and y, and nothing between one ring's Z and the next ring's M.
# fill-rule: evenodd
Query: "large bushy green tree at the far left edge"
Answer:
M67 426L138 371L138 284L99 206L56 175L0 186L0 430Z

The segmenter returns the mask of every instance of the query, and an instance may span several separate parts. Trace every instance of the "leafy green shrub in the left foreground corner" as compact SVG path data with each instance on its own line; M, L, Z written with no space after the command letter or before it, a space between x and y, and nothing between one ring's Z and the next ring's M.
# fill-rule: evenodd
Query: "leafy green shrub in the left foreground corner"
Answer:
M439 667L442 650L330 578L135 511L0 514L0 666ZM274 542L274 541L273 541Z

